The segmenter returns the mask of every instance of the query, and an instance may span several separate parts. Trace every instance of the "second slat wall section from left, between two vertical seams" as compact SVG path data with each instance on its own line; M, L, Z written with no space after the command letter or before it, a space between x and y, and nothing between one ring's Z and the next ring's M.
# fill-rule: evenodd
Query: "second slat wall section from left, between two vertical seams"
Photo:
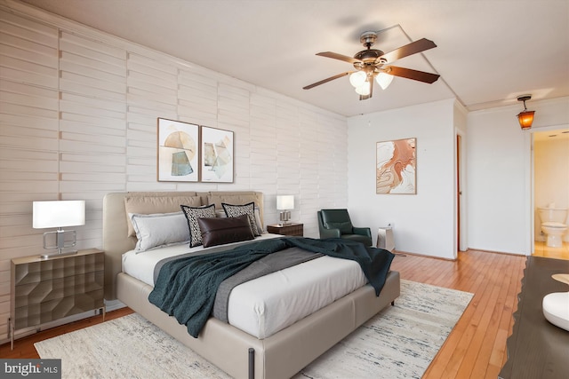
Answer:
M102 197L124 191L126 52L91 36L60 31L62 200L85 200L78 249L100 247Z

